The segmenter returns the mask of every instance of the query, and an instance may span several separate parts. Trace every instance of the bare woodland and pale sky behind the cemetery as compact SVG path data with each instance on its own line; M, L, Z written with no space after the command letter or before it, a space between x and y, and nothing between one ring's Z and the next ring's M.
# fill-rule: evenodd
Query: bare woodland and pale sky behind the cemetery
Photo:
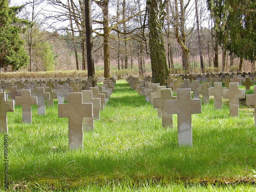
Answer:
M2 6L1 13L12 6L23 4L22 7L12 9L12 17L17 19L10 23L19 28L18 34L23 41L19 42L19 46L24 47L20 57L22 65L9 65L15 62L10 58L9 62L2 59L2 71L87 69L84 12L86 0L1 2L7 5ZM96 71L103 70L108 63L110 69L135 69L140 75L151 74L150 32L146 7L152 2L154 1L92 1ZM230 1L217 0L156 2L156 9L160 10L159 18L163 22L162 32L169 73L255 70L256 4L253 1L231 1L232 5ZM227 2L226 5L224 2ZM245 34L239 28L227 27L231 26L227 19L232 16L231 10L242 12L232 19L241 24ZM1 14L2 23L4 16L5 14ZM247 17L250 18L249 22L245 19ZM250 28L246 22L250 23ZM236 33L232 34L232 31ZM232 35L237 36L236 42L240 46L232 44Z

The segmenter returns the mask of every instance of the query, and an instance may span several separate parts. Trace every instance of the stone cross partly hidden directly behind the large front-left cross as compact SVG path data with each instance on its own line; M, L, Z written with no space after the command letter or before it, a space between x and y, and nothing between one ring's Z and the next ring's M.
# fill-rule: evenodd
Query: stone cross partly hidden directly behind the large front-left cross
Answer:
M82 102L93 103L93 117L84 117L84 128L86 131L93 131L93 120L99 119L100 98L93 98L92 90L83 90Z

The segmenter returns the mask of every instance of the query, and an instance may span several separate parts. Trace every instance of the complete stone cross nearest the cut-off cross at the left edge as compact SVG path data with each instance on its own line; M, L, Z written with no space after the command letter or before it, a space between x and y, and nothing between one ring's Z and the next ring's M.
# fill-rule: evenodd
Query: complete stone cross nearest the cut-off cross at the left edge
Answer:
M32 123L32 104L37 104L37 96L31 96L30 89L22 90L22 96L16 97L16 105L22 105L22 119L25 123Z

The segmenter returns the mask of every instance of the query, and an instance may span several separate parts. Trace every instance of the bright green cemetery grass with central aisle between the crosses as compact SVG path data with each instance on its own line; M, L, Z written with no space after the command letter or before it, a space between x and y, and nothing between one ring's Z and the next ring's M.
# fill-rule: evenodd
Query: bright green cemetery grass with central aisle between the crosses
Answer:
M9 190L23 191L255 191L256 129L253 109L229 117L214 101L192 115L193 146L178 146L174 129L162 127L157 110L118 80L93 132L83 133L83 151L70 151L68 118L58 118L57 100L32 124L22 107L8 113ZM1 135L1 143L4 134ZM0 186L4 190L4 150Z

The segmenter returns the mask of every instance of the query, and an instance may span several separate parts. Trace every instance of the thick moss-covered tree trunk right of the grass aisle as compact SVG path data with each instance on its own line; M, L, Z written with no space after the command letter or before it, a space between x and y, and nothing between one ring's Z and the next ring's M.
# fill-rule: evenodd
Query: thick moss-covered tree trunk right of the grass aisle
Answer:
M163 40L163 16L161 13L164 5L161 0L147 0L148 28L150 30L150 58L154 83L164 85L168 76L164 40Z

